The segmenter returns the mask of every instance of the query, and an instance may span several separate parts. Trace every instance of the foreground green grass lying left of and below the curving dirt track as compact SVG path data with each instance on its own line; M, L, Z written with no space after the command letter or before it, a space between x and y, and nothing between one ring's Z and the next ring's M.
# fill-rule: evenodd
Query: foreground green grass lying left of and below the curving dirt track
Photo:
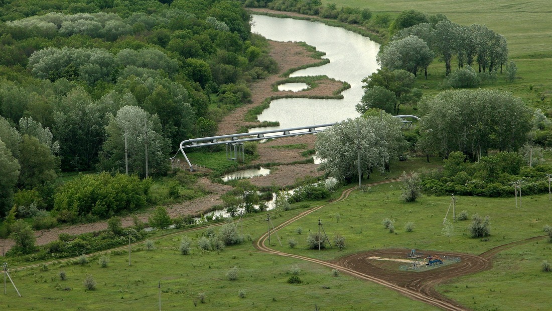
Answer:
M274 215L274 225L300 211ZM253 237L262 234L266 226L261 216L242 223L240 231ZM324 310L437 310L374 283L346 275L333 276L330 269L315 264L258 253L250 242L227 247L221 252L201 252L194 248L192 254L184 256L175 249L184 234L194 239L195 246L200 232L159 239L155 250L135 247L131 266L128 255L123 252L112 255L107 268L100 268L97 261L91 260L85 265L52 264L47 271L39 268L13 271L12 278L23 298L17 297L13 288L8 288L7 297L10 298L2 299L0 308L151 310L157 308L157 285L161 282L164 310L194 308L194 301L197 308L203 310L304 310L314 309L315 305ZM298 285L286 282L288 271L294 265L301 269L302 283ZM238 267L236 281L226 279L226 272L232 266ZM60 270L66 272L67 280L59 279ZM87 274L97 281L97 290L84 290L83 280ZM65 288L71 290L65 291ZM238 296L240 290L245 292L245 298ZM200 293L205 293L204 303L199 301Z

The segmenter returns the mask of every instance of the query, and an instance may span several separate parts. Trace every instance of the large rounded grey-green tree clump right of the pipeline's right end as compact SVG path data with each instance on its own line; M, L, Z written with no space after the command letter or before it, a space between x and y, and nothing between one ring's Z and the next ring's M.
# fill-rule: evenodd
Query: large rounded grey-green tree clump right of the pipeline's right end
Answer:
M448 157L461 151L470 159L490 149L517 151L532 129L532 113L519 97L496 90L452 90L419 103L418 148Z

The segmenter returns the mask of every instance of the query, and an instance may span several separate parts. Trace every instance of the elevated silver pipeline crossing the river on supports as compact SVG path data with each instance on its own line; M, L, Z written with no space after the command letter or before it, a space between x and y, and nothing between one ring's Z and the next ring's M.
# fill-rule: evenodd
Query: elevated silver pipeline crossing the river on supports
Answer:
M404 118L418 119L418 117L416 116L407 115L407 114L400 114L399 116L394 116L394 117L403 119L402 120L403 127L406 127L406 128L410 127L410 124L412 124L412 121L407 121ZM237 160L238 158L243 159L244 157L243 143L245 143L246 141L257 141L257 140L263 140L268 138L283 138L283 137L292 137L292 136L299 136L299 135L306 135L306 134L315 134L315 133L322 132L327 127L331 127L334 125L335 123L327 123L327 124L318 124L315 126L273 129L273 130L263 130L261 132L238 133L238 134L194 138L194 139L188 139L188 140L182 141L182 143L180 143L178 150L182 152L182 155L184 156L184 159L188 163L188 166L190 167L190 172L191 172L193 171L192 163L190 163L188 156L184 152L184 149L187 149L187 148L197 148L197 147L225 144L226 159ZM293 133L291 133L292 131ZM177 151L177 154L178 154L178 151ZM174 161L176 160L176 155L174 155L174 157L172 157L170 160L174 163Z

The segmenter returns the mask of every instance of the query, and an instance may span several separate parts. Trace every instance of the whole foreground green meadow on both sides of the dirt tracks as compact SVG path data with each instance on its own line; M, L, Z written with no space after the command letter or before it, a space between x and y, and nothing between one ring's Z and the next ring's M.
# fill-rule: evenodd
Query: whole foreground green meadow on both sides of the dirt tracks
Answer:
M399 170L397 170L399 171ZM458 197L457 215L466 210L470 215L490 215L491 237L488 241L470 238L466 227L469 221L455 223L455 235L450 243L442 234L442 220L450 204L449 197L422 197L415 203L399 199L399 183L372 187L368 192L353 192L339 203L328 204L319 211L300 219L278 232L283 246L272 239L272 247L284 252L311 258L332 260L347 254L379 248L454 250L479 254L498 245L542 235L545 224L552 224L552 203L548 195L523 197L522 207L515 207L513 198L490 199ZM311 203L326 204L327 202ZM303 210L273 212L274 226ZM449 219L452 219L452 210ZM389 233L381 221L395 220L396 233ZM242 220L238 230L253 239L266 232L264 215ZM332 240L336 234L346 238L346 248L307 250L305 239L309 231L317 230L322 219L325 231ZM406 222L415 223L413 232L405 232ZM302 234L296 228L302 228ZM215 228L215 230L218 230ZM169 231L170 233L171 231ZM176 231L173 231L176 232ZM257 252L251 242L227 247L220 252L201 251L196 241L202 231L178 233L157 239L156 249L146 251L135 245L132 265L128 265L125 250L112 254L109 266L100 268L97 259L85 265L52 264L47 271L39 268L13 271L15 284L23 294L16 297L8 287L9 299L0 301L2 310L81 310L157 308L161 281L163 309L193 308L231 310L304 310L318 305L323 310L434 310L420 302L411 301L379 285L363 282L346 275L332 276L332 271L300 260ZM192 254L181 255L177 247L186 235L193 239ZM289 238L299 243L288 246ZM461 277L439 290L447 296L476 310L535 310L552 305L552 297L534 290L529 296L516 293L529 291L531 282L542 288L549 275L540 272L542 260L552 261L551 244L544 239L537 244L521 245L506 250L493 260L493 269ZM299 285L286 283L288 271L298 265L303 281ZM226 272L238 267L239 279L229 281ZM67 280L57 276L63 270ZM90 274L97 281L97 290L85 291L84 277ZM58 285L59 283L59 285ZM8 283L9 285L9 283ZM466 287L467 285L467 287ZM60 288L61 290L56 290ZM533 287L533 285L532 285ZM71 288L64 291L64 288ZM245 298L238 291L245 292ZM205 293L205 302L198 295ZM360 294L359 294L360 293ZM472 298L474 297L474 298ZM522 302L531 297L534 304ZM71 302L71 305L67 304ZM47 302L47 303L45 303ZM475 303L474 303L475 302ZM535 307L536 306L536 307Z

